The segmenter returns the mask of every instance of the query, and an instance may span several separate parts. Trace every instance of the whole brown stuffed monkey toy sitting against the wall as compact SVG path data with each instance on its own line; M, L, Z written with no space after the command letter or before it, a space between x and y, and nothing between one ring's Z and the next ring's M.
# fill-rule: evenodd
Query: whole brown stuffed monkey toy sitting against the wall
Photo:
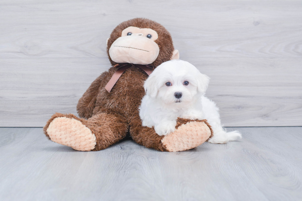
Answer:
M165 136L142 126L138 108L144 81L161 63L179 59L162 25L144 18L122 22L107 39L107 54L112 67L80 98L80 118L55 113L43 128L48 139L80 151L98 151L130 135L147 148L171 152L195 148L211 136L206 120L178 118L177 129Z

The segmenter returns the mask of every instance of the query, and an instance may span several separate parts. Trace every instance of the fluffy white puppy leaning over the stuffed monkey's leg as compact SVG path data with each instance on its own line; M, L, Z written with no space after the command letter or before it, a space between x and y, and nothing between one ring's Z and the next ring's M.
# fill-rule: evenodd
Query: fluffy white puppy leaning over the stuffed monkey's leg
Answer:
M207 119L214 135L209 142L234 141L241 134L227 133L223 129L218 108L204 96L209 77L201 74L192 64L171 60L159 65L145 81L146 95L140 106L143 126L153 127L158 135L167 135L175 130L178 117Z

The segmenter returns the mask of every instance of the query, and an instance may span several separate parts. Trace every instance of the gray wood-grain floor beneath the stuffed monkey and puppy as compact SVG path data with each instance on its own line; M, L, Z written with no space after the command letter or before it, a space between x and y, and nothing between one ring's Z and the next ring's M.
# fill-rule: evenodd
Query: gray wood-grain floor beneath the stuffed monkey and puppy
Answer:
M302 127L238 127L243 139L165 153L124 140L98 152L0 128L0 200L301 200Z

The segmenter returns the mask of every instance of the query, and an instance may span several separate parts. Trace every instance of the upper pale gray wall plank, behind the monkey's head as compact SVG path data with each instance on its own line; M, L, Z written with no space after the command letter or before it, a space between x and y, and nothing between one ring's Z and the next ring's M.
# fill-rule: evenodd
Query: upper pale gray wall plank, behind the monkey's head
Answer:
M302 2L2 0L0 57L106 57L120 22L164 25L181 56L302 56Z

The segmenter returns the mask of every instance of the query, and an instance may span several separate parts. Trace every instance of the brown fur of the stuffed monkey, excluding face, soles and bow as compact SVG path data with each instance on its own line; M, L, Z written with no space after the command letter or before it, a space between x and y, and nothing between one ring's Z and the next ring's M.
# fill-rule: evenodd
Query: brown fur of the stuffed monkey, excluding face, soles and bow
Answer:
M157 22L135 18L119 24L111 33L108 40L107 53L109 60L109 48L111 44L121 36L123 29L135 26L139 28L151 28L158 33L158 39L155 41L160 52L157 59L152 63L157 67L161 63L170 60L173 54L173 43L169 32ZM116 68L111 67L107 72L102 73L80 98L77 111L81 118L73 114L54 114L44 127L44 133L47 134L47 128L56 117L74 118L82 122L96 136L96 147L93 151L105 149L108 146L120 141L130 133L135 142L148 148L167 151L161 143L164 136L159 136L154 129L141 126L138 107L141 99L145 95L143 88L144 81L148 75L137 67L128 68L118 79L111 92L108 93L104 88L112 77ZM190 120L178 120L178 126ZM206 123L205 120L202 120Z

